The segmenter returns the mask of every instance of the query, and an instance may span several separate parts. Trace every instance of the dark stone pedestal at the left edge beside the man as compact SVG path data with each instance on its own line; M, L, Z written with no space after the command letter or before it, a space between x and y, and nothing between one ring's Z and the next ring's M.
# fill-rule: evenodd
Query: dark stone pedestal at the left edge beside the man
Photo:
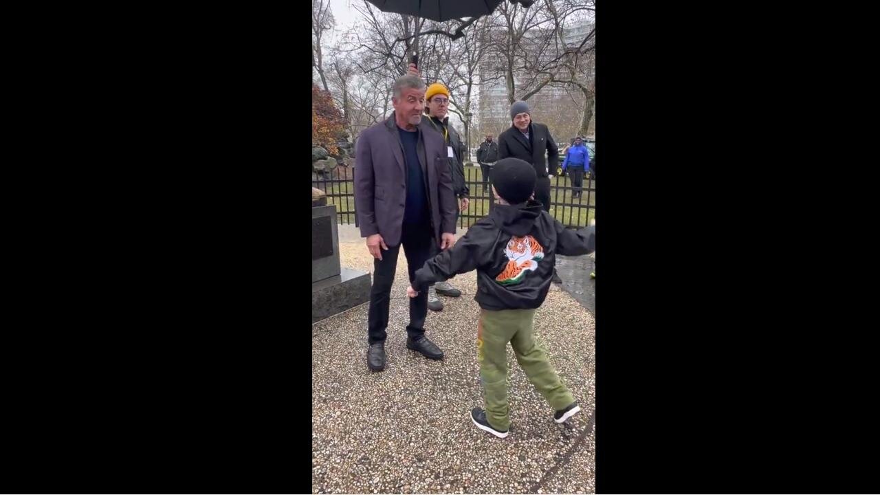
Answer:
M370 274L342 269L336 206L312 208L312 323L370 300Z

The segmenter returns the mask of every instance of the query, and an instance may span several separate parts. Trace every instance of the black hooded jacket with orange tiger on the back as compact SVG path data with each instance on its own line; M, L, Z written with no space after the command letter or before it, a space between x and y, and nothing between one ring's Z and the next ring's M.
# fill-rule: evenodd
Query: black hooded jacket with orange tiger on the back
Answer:
M481 308L532 309L550 290L557 254L587 255L595 249L596 227L567 229L535 201L498 205L455 246L416 270L413 288L424 291L429 284L477 270L473 299Z

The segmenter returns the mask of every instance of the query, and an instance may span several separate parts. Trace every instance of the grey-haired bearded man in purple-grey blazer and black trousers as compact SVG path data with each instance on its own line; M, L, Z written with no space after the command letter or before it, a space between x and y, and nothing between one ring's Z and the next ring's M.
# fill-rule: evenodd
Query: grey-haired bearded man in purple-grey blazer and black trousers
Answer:
M455 243L457 202L443 137L422 122L425 84L407 74L392 87L394 112L357 138L355 207L373 256L367 366L385 369L385 329L397 256L403 246L409 280L438 248ZM407 348L427 358L443 351L425 336L428 294L409 299Z

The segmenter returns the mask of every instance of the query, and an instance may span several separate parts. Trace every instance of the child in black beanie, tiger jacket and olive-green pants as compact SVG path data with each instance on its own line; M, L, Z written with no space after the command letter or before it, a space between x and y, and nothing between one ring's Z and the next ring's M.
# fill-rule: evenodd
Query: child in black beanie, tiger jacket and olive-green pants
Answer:
M595 227L566 229L533 201L534 168L521 159L501 159L492 169L493 192L500 203L450 249L425 262L407 289L410 297L430 284L477 270L480 322L477 360L486 410L471 411L473 424L507 437L507 343L510 342L532 385L563 423L580 411L553 365L532 336L532 320L546 298L556 254L587 255L595 250Z

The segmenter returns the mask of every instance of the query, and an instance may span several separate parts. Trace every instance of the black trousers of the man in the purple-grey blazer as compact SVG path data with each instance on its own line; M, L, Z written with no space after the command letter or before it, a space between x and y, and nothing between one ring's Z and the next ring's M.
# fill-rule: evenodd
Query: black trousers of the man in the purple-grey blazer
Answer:
M397 255L403 246L407 256L407 270L410 284L415 278L415 270L419 270L436 252L434 234L428 225L403 225L400 233L400 244L382 251L382 261L373 260L373 286L370 289L370 315L368 318L367 339L370 344L385 340L385 329L388 327L388 310L391 302L391 286L397 272ZM407 296L404 296L407 297ZM409 299L409 325L407 335L415 340L425 335L425 317L428 315L428 291L422 291L418 297Z

